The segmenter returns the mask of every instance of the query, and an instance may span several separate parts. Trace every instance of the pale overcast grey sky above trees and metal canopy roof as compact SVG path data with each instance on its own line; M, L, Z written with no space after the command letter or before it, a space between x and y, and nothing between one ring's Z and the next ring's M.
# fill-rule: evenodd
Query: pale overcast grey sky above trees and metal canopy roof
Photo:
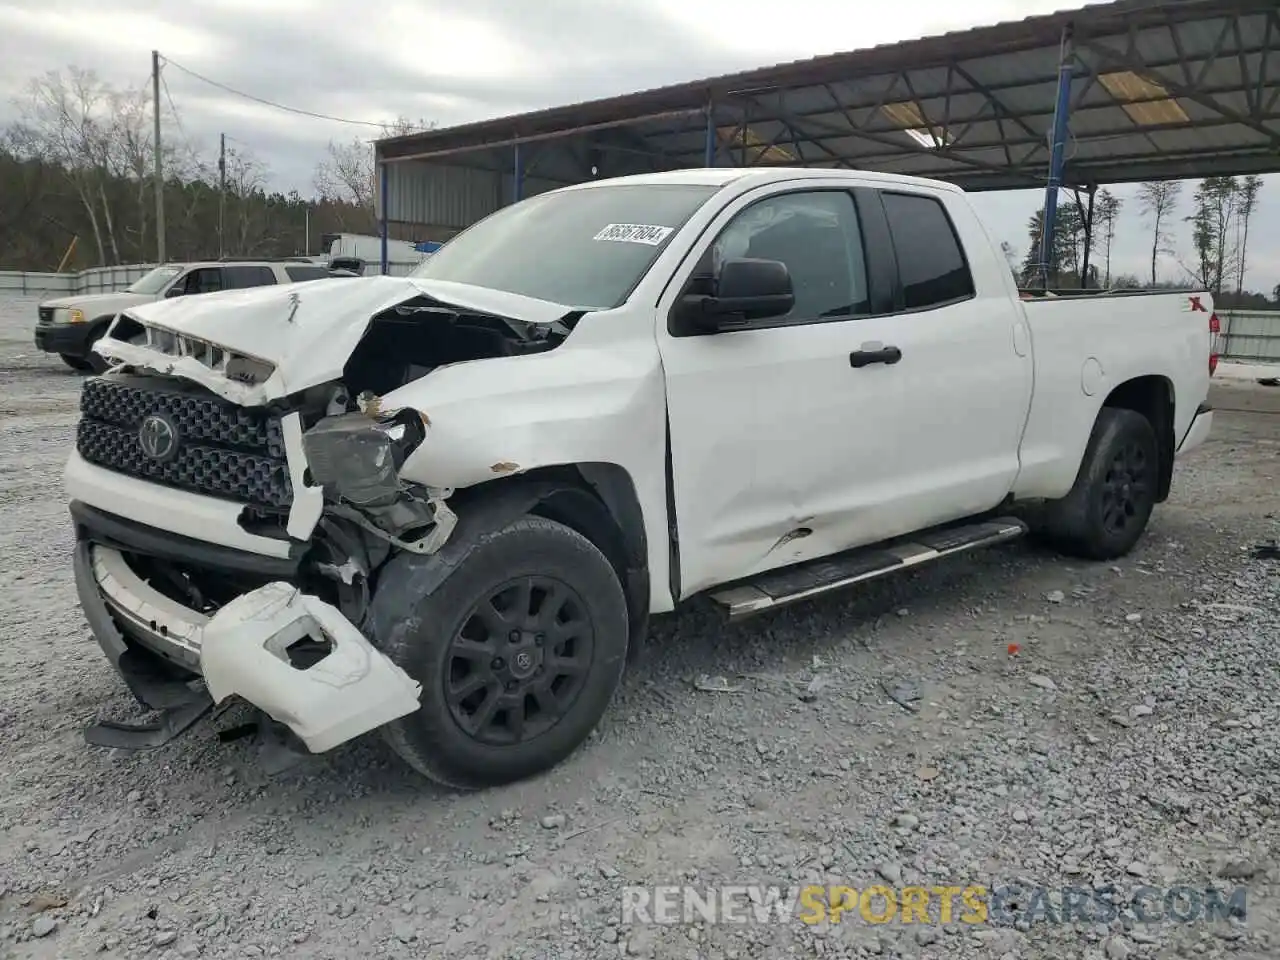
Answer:
M147 82L150 51L256 96L360 120L442 127L910 40L1070 6L1070 0L0 0L0 124L28 78L74 64L115 86ZM873 13L872 13L873 10ZM870 14L870 15L869 15ZM311 192L329 140L369 128L280 113L165 72L183 131L211 154L219 133ZM1133 188L1114 273L1146 274L1149 241ZM1190 184L1184 191L1189 207ZM1023 252L1036 193L978 195L993 233ZM1180 211L1183 214L1188 210ZM1189 260L1189 227L1178 243ZM1166 259L1162 275L1180 274ZM1280 284L1280 177L1249 238L1248 287Z

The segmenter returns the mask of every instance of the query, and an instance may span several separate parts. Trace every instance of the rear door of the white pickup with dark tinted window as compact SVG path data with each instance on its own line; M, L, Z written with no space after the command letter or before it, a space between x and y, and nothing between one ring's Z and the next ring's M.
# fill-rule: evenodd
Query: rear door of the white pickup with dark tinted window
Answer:
M891 310L850 330L860 442L846 509L865 543L1000 504L1018 475L1032 357L1007 268L966 204L923 187L856 196L868 248L893 255Z

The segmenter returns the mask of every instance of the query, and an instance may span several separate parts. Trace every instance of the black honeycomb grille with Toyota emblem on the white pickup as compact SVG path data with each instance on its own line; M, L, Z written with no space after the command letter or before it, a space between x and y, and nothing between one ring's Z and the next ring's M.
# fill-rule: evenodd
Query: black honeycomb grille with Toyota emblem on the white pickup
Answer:
M152 415L175 434L177 449L161 457L142 445ZM76 447L91 463L183 490L275 508L293 500L279 417L204 393L86 380Z

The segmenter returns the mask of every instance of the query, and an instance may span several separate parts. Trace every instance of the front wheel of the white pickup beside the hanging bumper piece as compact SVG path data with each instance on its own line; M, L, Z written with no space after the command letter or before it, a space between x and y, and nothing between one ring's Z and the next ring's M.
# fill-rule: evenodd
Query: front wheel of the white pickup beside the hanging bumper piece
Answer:
M572 754L626 663L617 573L595 544L543 517L485 536L402 622L384 653L422 685L421 705L383 735L413 769L463 790L524 780Z

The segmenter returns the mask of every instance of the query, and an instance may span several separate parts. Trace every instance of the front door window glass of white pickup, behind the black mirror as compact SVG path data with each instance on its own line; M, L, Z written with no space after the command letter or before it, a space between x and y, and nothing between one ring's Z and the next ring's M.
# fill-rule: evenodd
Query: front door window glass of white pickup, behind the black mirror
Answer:
M740 212L712 246L712 273L724 260L781 260L795 307L778 323L865 316L867 262L854 198L844 191L785 193Z

